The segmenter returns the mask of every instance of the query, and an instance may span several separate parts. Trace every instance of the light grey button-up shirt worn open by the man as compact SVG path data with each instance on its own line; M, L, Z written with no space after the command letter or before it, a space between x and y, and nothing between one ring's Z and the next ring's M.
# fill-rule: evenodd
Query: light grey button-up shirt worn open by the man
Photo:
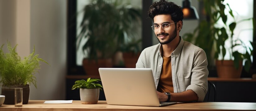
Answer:
M180 37L181 38L181 37ZM151 68L156 88L160 78L163 58L162 45L145 48L136 63L136 68ZM171 53L171 73L174 92L193 90L198 101L203 101L208 89L207 58L203 49L181 38L177 48Z

